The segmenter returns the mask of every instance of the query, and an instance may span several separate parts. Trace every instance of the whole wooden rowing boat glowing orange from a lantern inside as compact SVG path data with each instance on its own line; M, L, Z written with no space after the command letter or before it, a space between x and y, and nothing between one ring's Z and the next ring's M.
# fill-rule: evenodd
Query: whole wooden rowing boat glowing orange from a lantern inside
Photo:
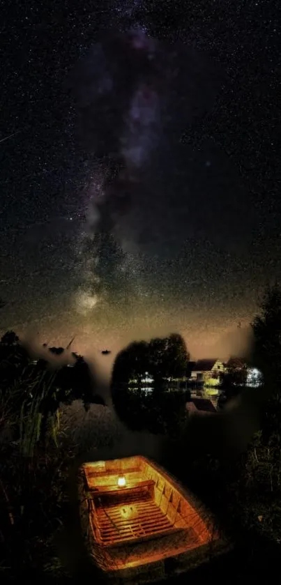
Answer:
M86 463L82 476L88 545L107 578L156 581L228 548L202 506L149 459Z

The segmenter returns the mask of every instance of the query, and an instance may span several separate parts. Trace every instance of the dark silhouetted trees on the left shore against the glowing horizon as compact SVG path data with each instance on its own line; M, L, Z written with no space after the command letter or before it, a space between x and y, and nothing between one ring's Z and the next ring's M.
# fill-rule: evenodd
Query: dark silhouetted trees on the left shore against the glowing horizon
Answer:
M64 349L52 347L50 351L61 355ZM8 402L10 414L15 418L15 439L23 432L20 427L30 416L34 427L30 441L34 444L38 433L44 437L47 419L56 415L60 404L82 400L86 409L89 404L105 404L96 394L89 365L82 356L75 356L75 359L70 367L50 367L47 359L31 359L13 331L3 335L0 343L1 400Z

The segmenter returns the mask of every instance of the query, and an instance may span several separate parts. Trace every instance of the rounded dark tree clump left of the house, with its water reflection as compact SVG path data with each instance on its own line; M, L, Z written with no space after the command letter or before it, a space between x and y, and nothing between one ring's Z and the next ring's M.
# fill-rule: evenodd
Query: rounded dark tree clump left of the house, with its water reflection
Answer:
M120 352L112 372L112 399L128 427L154 433L172 432L179 416L185 418L184 394L164 390L169 378L186 373L188 359L185 342L177 334L150 342L134 342ZM142 391L146 372L153 379L153 392L149 395ZM132 380L135 384L129 388Z

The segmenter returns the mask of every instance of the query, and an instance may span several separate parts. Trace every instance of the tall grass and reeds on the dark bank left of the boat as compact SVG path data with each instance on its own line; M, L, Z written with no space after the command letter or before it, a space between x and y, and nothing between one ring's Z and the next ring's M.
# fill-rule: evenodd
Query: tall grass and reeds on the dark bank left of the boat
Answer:
M13 368L8 383L7 367ZM54 536L63 524L73 446L59 444L56 375L29 364L0 363L1 574L62 570ZM0 374L1 375L1 374ZM8 381L7 381L8 380ZM16 562L15 562L16 561Z

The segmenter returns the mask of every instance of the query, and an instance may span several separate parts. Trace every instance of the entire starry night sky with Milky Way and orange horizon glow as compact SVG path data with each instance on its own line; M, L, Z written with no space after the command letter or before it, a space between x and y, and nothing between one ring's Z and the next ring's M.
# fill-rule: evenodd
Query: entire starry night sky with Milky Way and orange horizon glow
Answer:
M1 331L222 356L280 278L278 6L100 6L6 3Z

